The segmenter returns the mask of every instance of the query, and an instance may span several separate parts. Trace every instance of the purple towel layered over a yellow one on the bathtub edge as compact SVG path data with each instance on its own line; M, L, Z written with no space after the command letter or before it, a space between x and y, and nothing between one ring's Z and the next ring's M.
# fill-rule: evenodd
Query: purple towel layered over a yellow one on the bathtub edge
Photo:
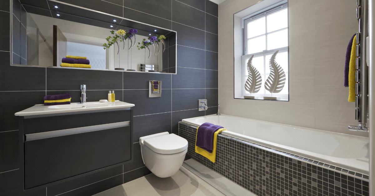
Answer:
M222 128L223 127L219 125L203 123L198 127L195 145L206 150L208 153L212 153L214 133Z

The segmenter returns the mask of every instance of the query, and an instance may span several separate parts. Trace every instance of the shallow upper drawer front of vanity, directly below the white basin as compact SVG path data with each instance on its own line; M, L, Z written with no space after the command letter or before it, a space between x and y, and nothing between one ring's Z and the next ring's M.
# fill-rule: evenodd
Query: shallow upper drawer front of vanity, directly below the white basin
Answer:
M86 114L66 114L51 117L24 118L24 134L39 133L99 124L130 121L131 110L101 111Z

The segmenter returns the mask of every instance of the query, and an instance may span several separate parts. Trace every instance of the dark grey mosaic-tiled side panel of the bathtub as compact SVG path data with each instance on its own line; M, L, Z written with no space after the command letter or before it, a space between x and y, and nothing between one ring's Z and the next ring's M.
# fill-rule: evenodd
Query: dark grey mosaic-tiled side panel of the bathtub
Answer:
M187 156L257 196L369 196L368 176L224 134L217 136L216 162L212 163L195 153L196 128L178 125L178 134L189 142Z

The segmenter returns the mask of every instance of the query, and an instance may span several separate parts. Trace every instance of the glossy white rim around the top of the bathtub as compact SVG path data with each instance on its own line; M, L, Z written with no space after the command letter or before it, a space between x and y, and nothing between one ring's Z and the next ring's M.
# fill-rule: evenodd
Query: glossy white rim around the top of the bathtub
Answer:
M207 116L214 116L214 115L216 115L216 114L207 115ZM244 120L261 121L261 120L255 120L255 119L243 118L243 117L236 117L236 116L231 116L231 115L225 115L225 116L242 118ZM202 117L194 117L194 118L202 118ZM193 118L183 119L180 123L183 123L183 124L186 124L187 126L192 126L192 127L198 127L199 126L199 125L196 126L195 123L190 123L189 121L186 121L188 119L193 119ZM261 121L261 122L272 123L272 122L268 122L268 121ZM280 123L272 123L272 124L281 125L281 126L291 126L291 125L280 124ZM297 127L297 126L291 126L291 127ZM306 129L306 127L299 127L299 128ZM329 132L329 131L324 131L324 130L318 130L318 131L332 133L332 134L339 134L339 135L344 134L344 135L347 135L347 136L354 136L354 135L350 135L350 134ZM307 161L307 160L313 160L315 162L318 162L318 163L315 163L318 166L326 167L327 169L330 169L332 171L342 172L343 174L353 175L356 178L362 178L362 176L365 175L366 178L363 178L363 179L368 180L369 170L368 169L366 170L365 168L368 168L369 164L365 163L365 162L360 162L358 160L353 160L353 159L347 159L347 160L356 161L356 162L360 163L360 165L362 165L362 168L358 168L358 167L355 167L355 166L351 166L353 164L349 164L349 165L344 164L345 161L341 161L341 160L345 160L345 158L338 158L338 157L332 157L332 156L327 156L327 155L323 155L323 154L313 153L313 152L310 152L310 151L305 151L305 150L301 150L301 149L297 149L297 148L293 148L293 147L288 147L288 146L281 145L281 144L276 144L276 143L273 143L273 142L264 141L264 140L257 139L257 138L252 138L250 136L242 135L242 134L239 134L239 133L234 133L234 132L231 132L231 131L223 131L220 134L227 135L227 136L237 138L237 139L245 141L245 142L252 143L252 144L254 144L253 146L262 147L264 150L268 150L268 151L272 151L272 152L275 152L275 153L278 153L278 154L282 154L283 156L288 156L287 154L293 154L294 156L292 156L292 158L300 160L300 161L304 161L303 159L306 159L306 161L304 161L306 163L314 164L313 162ZM355 136L355 137L366 138L366 137L363 137L363 136ZM291 157L291 156L288 156L288 157ZM301 158L299 158L299 157L301 157ZM309 158L307 158L307 157L309 157ZM323 157L323 158L321 158L321 157ZM330 159L332 159L332 161L330 161ZM344 163L342 163L342 162L344 162ZM323 165L321 165L321 164L323 164ZM356 164L354 164L354 165L356 165ZM330 166L332 166L334 169L329 168ZM340 168L340 169L346 170L348 172L341 171L341 170L339 171L339 170L336 170L336 168Z

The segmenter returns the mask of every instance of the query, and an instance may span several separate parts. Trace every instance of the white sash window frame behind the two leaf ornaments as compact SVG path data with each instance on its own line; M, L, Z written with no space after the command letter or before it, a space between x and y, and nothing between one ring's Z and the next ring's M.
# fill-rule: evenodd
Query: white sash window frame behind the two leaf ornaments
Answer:
M242 34L242 45L243 45L243 48L242 48L242 56L241 56L241 83L242 83L242 90L241 90L241 94L242 96L250 96L250 93L248 93L248 91L245 90L245 81L247 79L247 65L245 62L245 59L247 58L250 58L252 55L254 55L254 58L255 57L260 57L260 56L264 56L264 73L266 73L266 66L267 66L267 62L268 60L265 59L266 55L270 55L270 54L273 54L275 53L277 50L279 50L279 53L281 52L288 52L288 70L284 70L284 72L287 74L287 82L285 85L288 85L288 94L287 94L287 99L288 100L277 100L277 101L289 101L289 9L288 9L288 26L285 27L285 28L281 28L281 29L278 29L278 30L275 30L275 31L271 31L271 32L267 32L267 16L268 15L271 15L273 13L276 13L276 12L280 12L284 9L288 9L288 2L287 3L283 3L279 6L275 6L275 7L272 7L270 9L267 9L261 13L257 13L256 15L252 15L252 16L246 16L242 19L243 21L243 34ZM264 16L266 19L266 32L264 34L261 34L261 35L258 35L258 36L254 36L254 37L247 37L248 36L248 32L247 32L247 24L249 22L252 22L252 21L255 21L257 19L260 19L261 16ZM271 34L271 33L275 33L275 32L278 32L278 31L282 31L282 30L288 30L288 46L284 46L284 47L281 47L281 48L275 48L275 49L271 49L271 50L267 50L268 46L267 46L267 35L268 34ZM246 48L248 47L248 40L249 39L254 39L254 38L257 38L257 37L260 37L260 36L266 36L266 50L264 51L261 51L261 52L256 52L256 53L252 53L252 54L246 54ZM267 62L266 62L267 61ZM266 74L267 75L267 74ZM264 82L266 81L267 78L263 78L262 77L262 85L264 85ZM276 94L276 95L279 95L281 97L286 97L286 94ZM271 96L271 93L265 93L264 96ZM257 100L267 100L267 99L257 99Z

